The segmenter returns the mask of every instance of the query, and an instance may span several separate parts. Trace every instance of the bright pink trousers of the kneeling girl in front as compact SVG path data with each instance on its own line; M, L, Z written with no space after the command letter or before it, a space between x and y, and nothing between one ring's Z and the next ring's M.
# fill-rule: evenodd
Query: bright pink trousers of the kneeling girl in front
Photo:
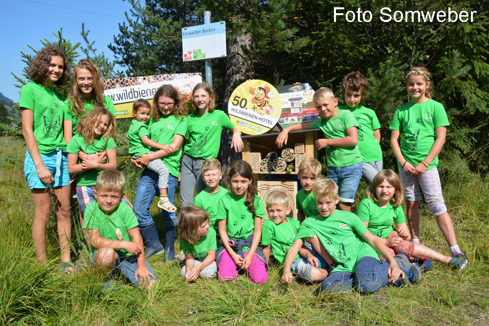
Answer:
M246 257L247 255L248 253L246 252L243 256ZM220 281L234 281L238 277L238 266L236 266L226 250L221 254L217 275ZM265 266L265 261L262 261L257 255L253 255L251 265L248 267L248 277L253 283L265 283L267 281L267 266Z

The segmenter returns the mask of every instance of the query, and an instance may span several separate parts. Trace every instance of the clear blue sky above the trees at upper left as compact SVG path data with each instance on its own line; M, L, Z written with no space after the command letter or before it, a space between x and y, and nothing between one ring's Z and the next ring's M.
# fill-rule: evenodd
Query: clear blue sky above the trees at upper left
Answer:
M124 12L129 13L132 8L131 4L122 0L1 0L0 7L2 8L0 9L0 41L2 44L0 62L3 63L0 68L0 92L15 102L19 102L20 88L14 86L16 80L10 72L21 77L22 68L25 66L21 61L21 51L33 54L27 44L39 50L42 48L40 40L47 39L54 42L56 37L52 33L57 33L60 27L63 27L64 38L73 44L80 42L84 46L85 42L80 32L82 30L81 22L85 22L85 30L90 30L90 42L95 41L95 47L98 51L104 51L106 56L113 59L113 53L107 45L113 43L113 36L118 34L119 29L116 28L118 23L125 21ZM95 24L114 26L115 28ZM81 58L83 56L78 59ZM118 68L119 70L122 69L121 67Z

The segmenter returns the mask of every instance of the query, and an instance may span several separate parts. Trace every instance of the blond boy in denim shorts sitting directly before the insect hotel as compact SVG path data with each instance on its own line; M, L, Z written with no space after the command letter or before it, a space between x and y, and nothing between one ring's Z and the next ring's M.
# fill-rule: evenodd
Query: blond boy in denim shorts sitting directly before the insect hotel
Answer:
M281 264L290 246L294 242L300 222L289 218L289 197L281 190L274 190L267 196L267 212L269 219L263 224L262 245L263 254L267 262L270 260L270 247L273 257ZM316 254L317 255L317 254ZM318 266L318 258L314 257L305 247L299 249L299 255L295 253L292 263L292 271L303 280L309 282L321 282L328 271ZM290 269L290 267L289 267Z

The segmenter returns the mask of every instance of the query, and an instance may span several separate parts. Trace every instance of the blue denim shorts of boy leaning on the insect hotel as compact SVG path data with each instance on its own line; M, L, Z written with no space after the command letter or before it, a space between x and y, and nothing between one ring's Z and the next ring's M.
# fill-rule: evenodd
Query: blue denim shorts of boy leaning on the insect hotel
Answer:
M363 162L341 168L328 167L328 179L338 185L339 201L353 203L362 177Z

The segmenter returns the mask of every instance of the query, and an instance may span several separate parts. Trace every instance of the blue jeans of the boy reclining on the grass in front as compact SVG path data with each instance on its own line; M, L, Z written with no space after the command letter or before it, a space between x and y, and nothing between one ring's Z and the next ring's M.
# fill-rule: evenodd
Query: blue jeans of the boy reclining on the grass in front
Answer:
M389 281L389 263L380 262L373 257L363 257L356 263L356 272L331 273L323 283L321 291L327 293L349 292L352 287L362 294L372 294L384 287Z

